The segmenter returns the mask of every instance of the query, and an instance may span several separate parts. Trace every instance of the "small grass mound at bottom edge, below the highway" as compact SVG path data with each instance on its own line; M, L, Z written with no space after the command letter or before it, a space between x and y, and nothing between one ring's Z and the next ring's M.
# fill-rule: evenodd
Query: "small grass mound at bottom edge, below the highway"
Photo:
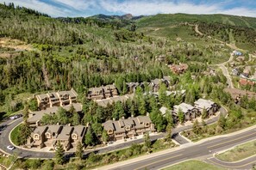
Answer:
M205 163L203 161L184 161L182 163L179 163L177 165L174 165L172 167L166 167L163 170L184 170L184 169L190 169L190 170L224 170L222 167L215 167L214 165L211 165L209 163Z

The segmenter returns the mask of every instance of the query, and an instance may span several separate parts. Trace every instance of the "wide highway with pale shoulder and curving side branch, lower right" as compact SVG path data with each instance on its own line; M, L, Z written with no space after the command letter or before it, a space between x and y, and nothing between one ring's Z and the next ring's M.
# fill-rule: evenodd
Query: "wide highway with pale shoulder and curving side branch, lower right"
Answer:
M186 147L180 147L176 151L170 150L168 153L157 155L141 156L134 160L124 161L109 165L106 167L100 167L98 169L112 169L112 170L130 170L130 169L160 169L163 167L171 166L172 164L180 161L186 161L189 159L201 158L210 163L214 163L218 166L234 168L234 169L248 169L256 163L255 157L249 158L245 161L236 163L227 163L222 161L215 161L213 154L223 149L229 149L237 144L245 143L247 141L256 139L256 131L253 128L248 128L246 131L242 130L234 132L233 134L224 135L222 137L213 137L211 139L204 140L203 142L190 143Z

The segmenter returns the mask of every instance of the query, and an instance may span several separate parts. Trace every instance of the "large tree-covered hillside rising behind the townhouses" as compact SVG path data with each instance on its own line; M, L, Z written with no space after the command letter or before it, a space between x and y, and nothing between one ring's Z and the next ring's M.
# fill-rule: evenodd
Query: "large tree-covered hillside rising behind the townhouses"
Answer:
M198 73L205 70L207 63L228 60L231 52L228 46L200 36L194 27L184 24L197 22L196 16L177 15L177 19L170 20L180 27L169 27L165 21L169 16L139 17L132 21L129 16L117 19L102 15L85 19L51 18L32 9L15 8L12 3L0 4L0 40L20 39L24 45L32 46L31 50L1 46L2 54L9 54L0 55L1 111L18 110L16 106L20 106L22 100L17 100L16 96L23 93L75 88L84 94L86 88L113 82L122 87L125 82L149 82L164 75L172 76L173 85L186 84L183 78L190 77L190 71ZM207 20L211 20L210 17L213 16L209 15ZM254 19L243 20L255 33ZM166 24L160 26L162 23ZM207 26L216 28L215 25ZM247 31L245 25L239 26ZM143 27L166 29L148 33ZM170 32L169 28L174 31ZM215 35L212 29L205 33ZM234 33L239 35L239 32ZM226 35L223 36L225 39ZM243 36L246 39L247 34ZM190 64L188 75L173 75L166 66L178 63ZM178 87L190 88L182 84Z

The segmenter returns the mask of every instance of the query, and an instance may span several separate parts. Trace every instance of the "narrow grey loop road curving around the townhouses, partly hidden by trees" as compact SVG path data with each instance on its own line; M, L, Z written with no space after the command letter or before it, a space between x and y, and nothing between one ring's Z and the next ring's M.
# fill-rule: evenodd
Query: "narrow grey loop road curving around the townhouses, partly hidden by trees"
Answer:
M221 107L220 112L222 112L222 114L226 115L227 112L226 110ZM206 124L212 124L215 123L218 120L218 117L215 118L211 118L208 121L206 121ZM2 124L9 124L5 130L1 131L2 135L0 136L0 149L2 149L5 153L8 153L9 155L12 155L14 153L17 153L20 157L22 158L53 158L54 157L54 153L53 152L34 152L28 149L20 149L20 148L16 148L14 150L9 150L6 147L8 145L11 145L11 143L9 142L9 133L10 131L16 127L17 124L20 124L22 122L22 118L18 118L15 121L11 121L8 120L7 122L4 122ZM192 124L191 125L187 125L187 126L182 126L182 127L178 127L173 129L172 134L178 133L180 131L185 131L185 130L190 130L192 128ZM157 140L159 138L163 138L165 137L165 133L159 133L158 135L155 136L151 136L150 139L153 140ZM101 148L101 149L94 149L93 151L96 153L106 153L106 152L110 152L116 149L124 149L129 147L132 143L143 143L144 139L137 139L131 142L127 142L127 143L121 143L118 145L113 145L113 146L109 146L106 148ZM92 151L92 150L91 150ZM91 151L85 151L84 154L88 154Z

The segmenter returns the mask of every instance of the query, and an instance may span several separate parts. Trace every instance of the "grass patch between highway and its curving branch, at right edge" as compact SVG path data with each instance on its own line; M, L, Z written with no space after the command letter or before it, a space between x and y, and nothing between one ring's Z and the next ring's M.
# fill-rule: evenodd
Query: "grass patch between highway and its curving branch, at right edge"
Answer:
M216 157L222 161L240 161L252 155L256 155L256 141L241 144Z

